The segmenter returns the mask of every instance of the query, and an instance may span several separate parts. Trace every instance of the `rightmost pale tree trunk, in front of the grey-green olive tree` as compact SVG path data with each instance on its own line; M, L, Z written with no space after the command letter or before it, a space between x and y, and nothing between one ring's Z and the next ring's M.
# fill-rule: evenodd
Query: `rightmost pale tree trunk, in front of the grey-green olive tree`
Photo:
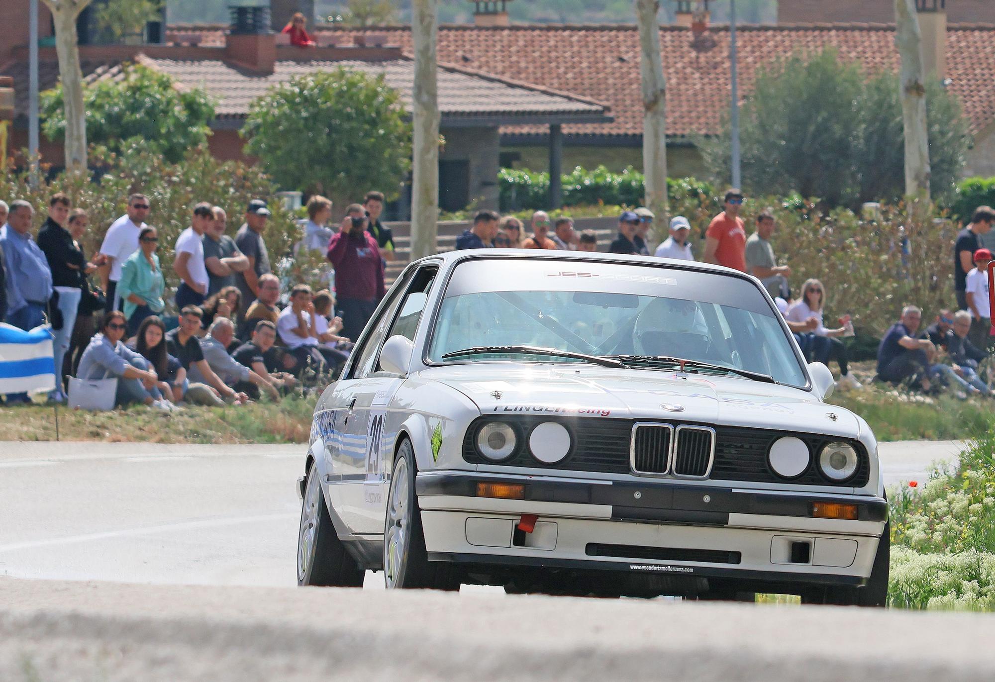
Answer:
M899 96L905 131L905 195L929 198L929 131L923 83L922 36L915 0L895 0L895 44L901 58Z

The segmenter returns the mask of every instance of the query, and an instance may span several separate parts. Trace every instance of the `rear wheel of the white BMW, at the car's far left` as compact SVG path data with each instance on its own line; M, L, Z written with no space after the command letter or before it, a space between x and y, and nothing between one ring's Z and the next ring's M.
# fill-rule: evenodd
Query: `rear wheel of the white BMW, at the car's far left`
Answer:
M304 483L298 532L298 585L361 588L366 572L338 539L321 492L317 465L311 463Z

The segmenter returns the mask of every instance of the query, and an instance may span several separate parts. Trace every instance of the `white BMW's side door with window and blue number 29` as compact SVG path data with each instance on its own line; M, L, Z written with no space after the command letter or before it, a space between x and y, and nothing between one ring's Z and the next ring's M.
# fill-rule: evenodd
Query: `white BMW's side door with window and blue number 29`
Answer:
M404 336L412 342L415 340L415 332L418 330L438 271L438 266L435 264L427 264L418 269L411 284L405 290L400 305L393 313L394 319L387 332L379 339L379 348L395 335ZM371 533L383 532L389 488L388 476L393 464L397 432L410 414L408 411L391 409L394 394L404 383L404 377L384 371L380 366L379 348L371 366L372 371L357 384L355 392L356 426L366 425L366 467L361 523L364 528L375 529L364 531Z

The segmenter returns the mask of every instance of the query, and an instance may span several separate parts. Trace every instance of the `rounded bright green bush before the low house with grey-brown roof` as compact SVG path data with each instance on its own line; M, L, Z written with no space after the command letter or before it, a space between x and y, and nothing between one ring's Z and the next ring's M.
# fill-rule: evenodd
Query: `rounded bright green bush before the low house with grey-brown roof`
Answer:
M383 75L333 69L277 85L256 99L242 134L284 189L348 203L370 189L388 199L411 165L411 123Z

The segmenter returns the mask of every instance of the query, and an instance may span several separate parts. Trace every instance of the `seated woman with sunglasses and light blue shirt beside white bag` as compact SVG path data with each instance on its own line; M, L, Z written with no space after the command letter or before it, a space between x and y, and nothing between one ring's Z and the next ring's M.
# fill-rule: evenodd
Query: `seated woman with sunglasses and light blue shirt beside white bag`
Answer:
M80 359L80 379L117 378L114 406L141 403L163 412L172 412L176 406L163 400L156 386L159 376L152 364L129 349L121 339L126 328L124 313L111 310L100 319L100 332L94 336Z

